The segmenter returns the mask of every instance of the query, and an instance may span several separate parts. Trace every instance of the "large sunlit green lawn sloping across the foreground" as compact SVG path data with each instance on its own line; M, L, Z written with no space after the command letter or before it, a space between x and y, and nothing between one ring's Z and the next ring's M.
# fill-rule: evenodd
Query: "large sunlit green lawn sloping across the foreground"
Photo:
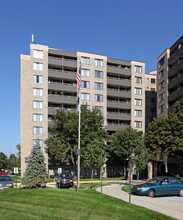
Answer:
M0 190L0 219L172 219L91 190Z

